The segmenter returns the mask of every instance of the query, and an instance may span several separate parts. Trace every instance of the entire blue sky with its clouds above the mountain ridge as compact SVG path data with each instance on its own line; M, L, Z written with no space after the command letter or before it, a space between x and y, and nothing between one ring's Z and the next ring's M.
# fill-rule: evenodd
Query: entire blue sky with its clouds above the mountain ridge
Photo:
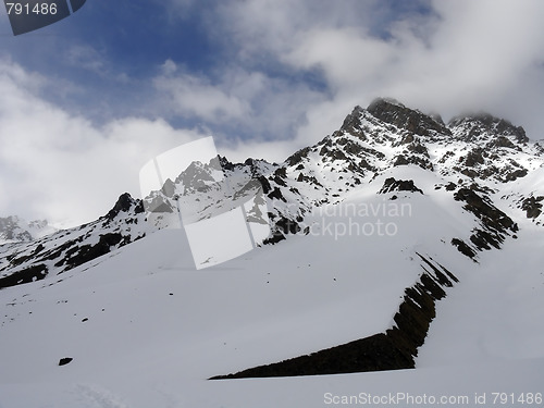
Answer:
M208 135L281 161L378 96L544 138L543 20L539 0L87 0L13 37L2 14L0 215L89 221Z

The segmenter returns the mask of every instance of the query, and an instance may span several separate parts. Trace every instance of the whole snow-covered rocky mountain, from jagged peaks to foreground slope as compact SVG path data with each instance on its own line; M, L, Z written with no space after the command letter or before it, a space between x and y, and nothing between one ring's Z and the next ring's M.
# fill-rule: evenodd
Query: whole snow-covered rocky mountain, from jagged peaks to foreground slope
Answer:
M206 379L326 374L293 380L290 405L275 405L313 407L360 381L445 393L450 375L483 372L452 390L539 392L543 181L544 148L522 127L485 113L446 124L391 99L283 163L195 162L92 223L0 246L0 391L21 384L10 407L39 406L18 392L50 393L46 379L58 406L255 407L274 406L255 395L280 383L252 380L244 398L247 383ZM166 227L180 202L203 220L258 188L272 234L195 271L183 230Z

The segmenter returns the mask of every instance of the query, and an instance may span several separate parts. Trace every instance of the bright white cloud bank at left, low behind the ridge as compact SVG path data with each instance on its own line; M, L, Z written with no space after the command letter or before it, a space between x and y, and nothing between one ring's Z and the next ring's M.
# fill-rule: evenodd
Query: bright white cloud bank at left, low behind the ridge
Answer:
M0 62L0 214L71 224L104 214L119 195L139 195L152 156L202 137L163 120L126 118L94 126L37 96L46 79Z

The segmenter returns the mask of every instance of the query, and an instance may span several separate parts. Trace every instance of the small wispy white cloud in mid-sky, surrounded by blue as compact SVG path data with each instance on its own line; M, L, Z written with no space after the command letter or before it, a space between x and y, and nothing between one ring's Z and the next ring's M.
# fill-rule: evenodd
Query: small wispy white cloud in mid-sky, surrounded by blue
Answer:
M187 73L172 60L160 71L153 83L163 114L197 119L220 132L227 127L230 139L289 138L305 122L308 107L323 99L305 83L242 66L223 66L211 75L213 81Z

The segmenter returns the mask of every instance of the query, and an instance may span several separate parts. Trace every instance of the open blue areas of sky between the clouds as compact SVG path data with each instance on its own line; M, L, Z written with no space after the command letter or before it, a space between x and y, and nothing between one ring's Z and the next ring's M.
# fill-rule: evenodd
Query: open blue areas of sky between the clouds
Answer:
M10 36L4 21L4 55L11 55L14 62L28 71L51 78L55 85L61 84L58 89L54 86L46 89L42 97L97 124L127 115L162 116L176 127L197 126L214 134L221 133L223 137L246 138L256 136L256 133L258 137L264 138L293 137L293 125L304 120L304 107L296 112L298 118L293 116L292 122L284 123L277 129L281 131L279 134L269 132L268 126L259 129L257 123L247 129L246 125L232 122L218 124L206 118L201 121L202 114L190 110L169 111L160 101L163 89L153 86L153 79L162 73L162 65L170 61L177 66L177 72L198 79L198 86L218 89L227 87L224 75L238 70L238 75L261 74L274 83L271 86L295 87L306 90L308 95L316 92L314 97L330 97L326 79L318 67L294 69L279 61L273 50L267 49L267 45L261 50L247 52L245 41L251 40L251 33L240 41L240 33L244 33L238 32L236 17L245 24L248 16L238 11L242 15L234 13L231 21L227 17L230 4L234 9L243 3L209 0L89 0L73 16L18 37L5 38ZM326 4L323 8L325 12L333 2L314 3L317 5L308 8L313 9L311 13L321 18L326 17L319 9ZM270 4L273 3L267 7ZM277 8L273 9L296 9L285 5L288 2L280 1L276 4ZM355 11L357 18L371 10L374 18L366 18L366 28L379 38L391 36L391 23L407 16L429 15L431 11L426 2L420 1L345 1L344 4L349 8L342 8ZM304 9L302 5L300 10ZM341 24L335 23L337 26ZM354 22L349 25L354 25ZM273 32L263 34L274 35ZM240 54L244 54L242 60ZM225 92L228 94L227 90ZM258 100L249 103L254 110L267 109ZM220 109L217 113L228 115Z

